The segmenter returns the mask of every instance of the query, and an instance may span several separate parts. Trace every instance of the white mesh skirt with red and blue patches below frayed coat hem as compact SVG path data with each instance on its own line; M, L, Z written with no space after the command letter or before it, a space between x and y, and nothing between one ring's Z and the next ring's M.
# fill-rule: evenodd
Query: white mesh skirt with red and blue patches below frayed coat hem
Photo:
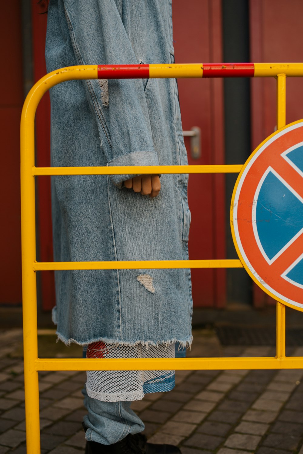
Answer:
M174 358L175 345L113 345L103 341L89 344L86 358ZM141 400L144 394L174 388L174 370L87 370L89 397L105 402Z

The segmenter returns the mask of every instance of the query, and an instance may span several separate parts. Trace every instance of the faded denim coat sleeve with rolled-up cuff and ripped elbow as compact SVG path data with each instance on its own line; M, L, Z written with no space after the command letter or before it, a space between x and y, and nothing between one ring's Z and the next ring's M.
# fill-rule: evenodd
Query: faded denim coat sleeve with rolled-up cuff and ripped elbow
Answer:
M114 0L64 0L65 17L79 64L138 64ZM144 20L143 20L144 25ZM159 165L141 79L108 81L109 103L102 105L98 81L84 81L96 114L109 166ZM103 133L102 132L103 129ZM112 175L114 184L133 175Z

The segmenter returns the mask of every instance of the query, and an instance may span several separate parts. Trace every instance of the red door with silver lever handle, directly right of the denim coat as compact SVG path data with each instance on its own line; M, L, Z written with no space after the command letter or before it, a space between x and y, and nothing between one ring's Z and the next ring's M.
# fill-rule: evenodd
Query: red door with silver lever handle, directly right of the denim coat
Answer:
M173 1L176 63L222 61L221 1ZM201 157L189 164L224 164L222 79L179 79L183 129L201 128ZM225 186L223 175L190 175L190 259L225 258ZM225 270L192 270L194 306L224 307Z

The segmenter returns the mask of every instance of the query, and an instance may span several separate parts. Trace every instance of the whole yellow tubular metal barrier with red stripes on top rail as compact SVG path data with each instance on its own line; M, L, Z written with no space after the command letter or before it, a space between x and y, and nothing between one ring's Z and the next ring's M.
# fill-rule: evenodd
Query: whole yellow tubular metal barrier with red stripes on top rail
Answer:
M144 72L145 71L145 72ZM125 75L128 72L128 75ZM40 359L37 341L36 271L136 268L239 268L239 260L164 260L131 262L36 262L35 176L109 175L149 173L238 173L242 165L146 167L35 167L35 112L43 94L60 82L99 78L176 77L275 77L277 79L277 128L285 126L286 77L302 77L303 64L153 64L74 66L58 69L40 79L30 90L21 116L21 235L24 327L25 415L27 453L40 453L39 370L227 370L298 369L303 357L285 356L285 306L277 302L276 356L255 358L182 359Z

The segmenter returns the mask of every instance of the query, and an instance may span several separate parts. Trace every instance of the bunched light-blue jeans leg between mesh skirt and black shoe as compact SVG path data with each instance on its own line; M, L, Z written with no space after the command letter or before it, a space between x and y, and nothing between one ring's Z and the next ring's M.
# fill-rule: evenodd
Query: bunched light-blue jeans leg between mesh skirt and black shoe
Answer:
M85 438L101 444L113 444L128 434L137 434L144 430L144 423L133 410L131 402L102 402L92 399L82 390L84 405L88 414L83 422L88 427Z

